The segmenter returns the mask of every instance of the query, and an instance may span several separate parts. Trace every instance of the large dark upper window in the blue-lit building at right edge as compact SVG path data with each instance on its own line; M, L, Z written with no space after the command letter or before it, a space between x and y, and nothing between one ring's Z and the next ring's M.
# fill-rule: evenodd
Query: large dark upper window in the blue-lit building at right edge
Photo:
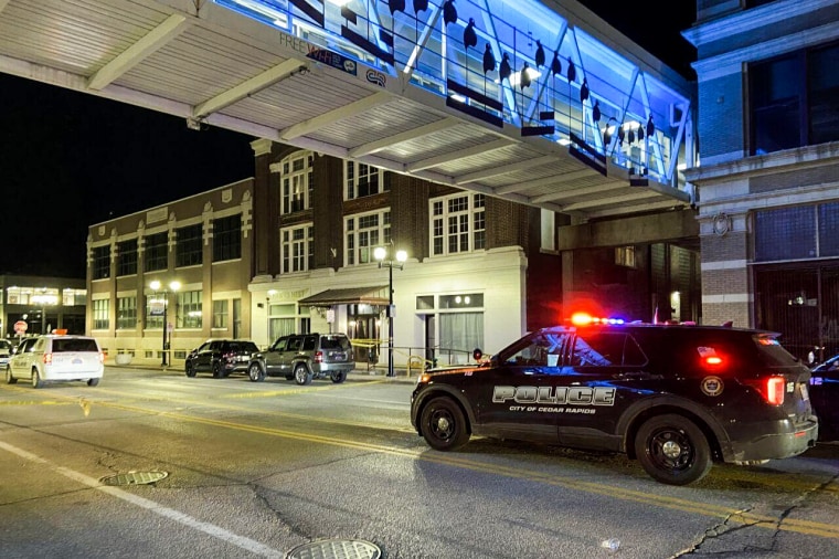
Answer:
M752 155L839 139L839 44L753 63Z

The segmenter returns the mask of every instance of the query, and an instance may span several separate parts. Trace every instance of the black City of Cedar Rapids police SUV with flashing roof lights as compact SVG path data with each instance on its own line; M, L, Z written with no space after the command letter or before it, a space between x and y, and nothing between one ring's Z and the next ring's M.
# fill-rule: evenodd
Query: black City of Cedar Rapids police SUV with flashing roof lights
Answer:
M713 462L816 444L810 371L777 336L597 319L544 328L480 365L426 371L411 422L439 451L484 435L622 452L655 479L687 485Z

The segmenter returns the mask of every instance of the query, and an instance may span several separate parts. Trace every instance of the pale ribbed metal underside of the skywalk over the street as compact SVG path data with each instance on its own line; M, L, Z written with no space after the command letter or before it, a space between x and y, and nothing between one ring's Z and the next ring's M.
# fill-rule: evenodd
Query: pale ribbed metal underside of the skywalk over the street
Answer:
M0 0L0 72L583 221L691 202L683 189L633 177L585 143L525 136L506 120L493 126L416 86L412 73L351 60L295 30L205 0ZM588 35L578 36L582 44ZM609 144L596 136L605 151Z

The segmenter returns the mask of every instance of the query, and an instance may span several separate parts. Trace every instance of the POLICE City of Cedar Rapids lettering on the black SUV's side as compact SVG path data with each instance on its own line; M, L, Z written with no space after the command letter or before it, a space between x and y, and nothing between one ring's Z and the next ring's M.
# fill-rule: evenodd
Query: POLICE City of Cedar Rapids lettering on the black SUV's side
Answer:
M492 403L513 401L510 411L594 413L588 405L615 405L614 388L607 387L495 387ZM529 405L524 405L529 404ZM545 407L544 404L554 404ZM541 407L540 407L541 405ZM560 407L561 405L561 407ZM581 408L569 408L570 405Z

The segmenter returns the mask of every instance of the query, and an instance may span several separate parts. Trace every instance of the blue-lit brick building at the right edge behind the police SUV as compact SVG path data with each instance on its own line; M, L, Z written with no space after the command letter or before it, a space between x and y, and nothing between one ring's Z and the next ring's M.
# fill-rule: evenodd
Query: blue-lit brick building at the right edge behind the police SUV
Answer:
M839 4L700 0L702 309L839 351Z

